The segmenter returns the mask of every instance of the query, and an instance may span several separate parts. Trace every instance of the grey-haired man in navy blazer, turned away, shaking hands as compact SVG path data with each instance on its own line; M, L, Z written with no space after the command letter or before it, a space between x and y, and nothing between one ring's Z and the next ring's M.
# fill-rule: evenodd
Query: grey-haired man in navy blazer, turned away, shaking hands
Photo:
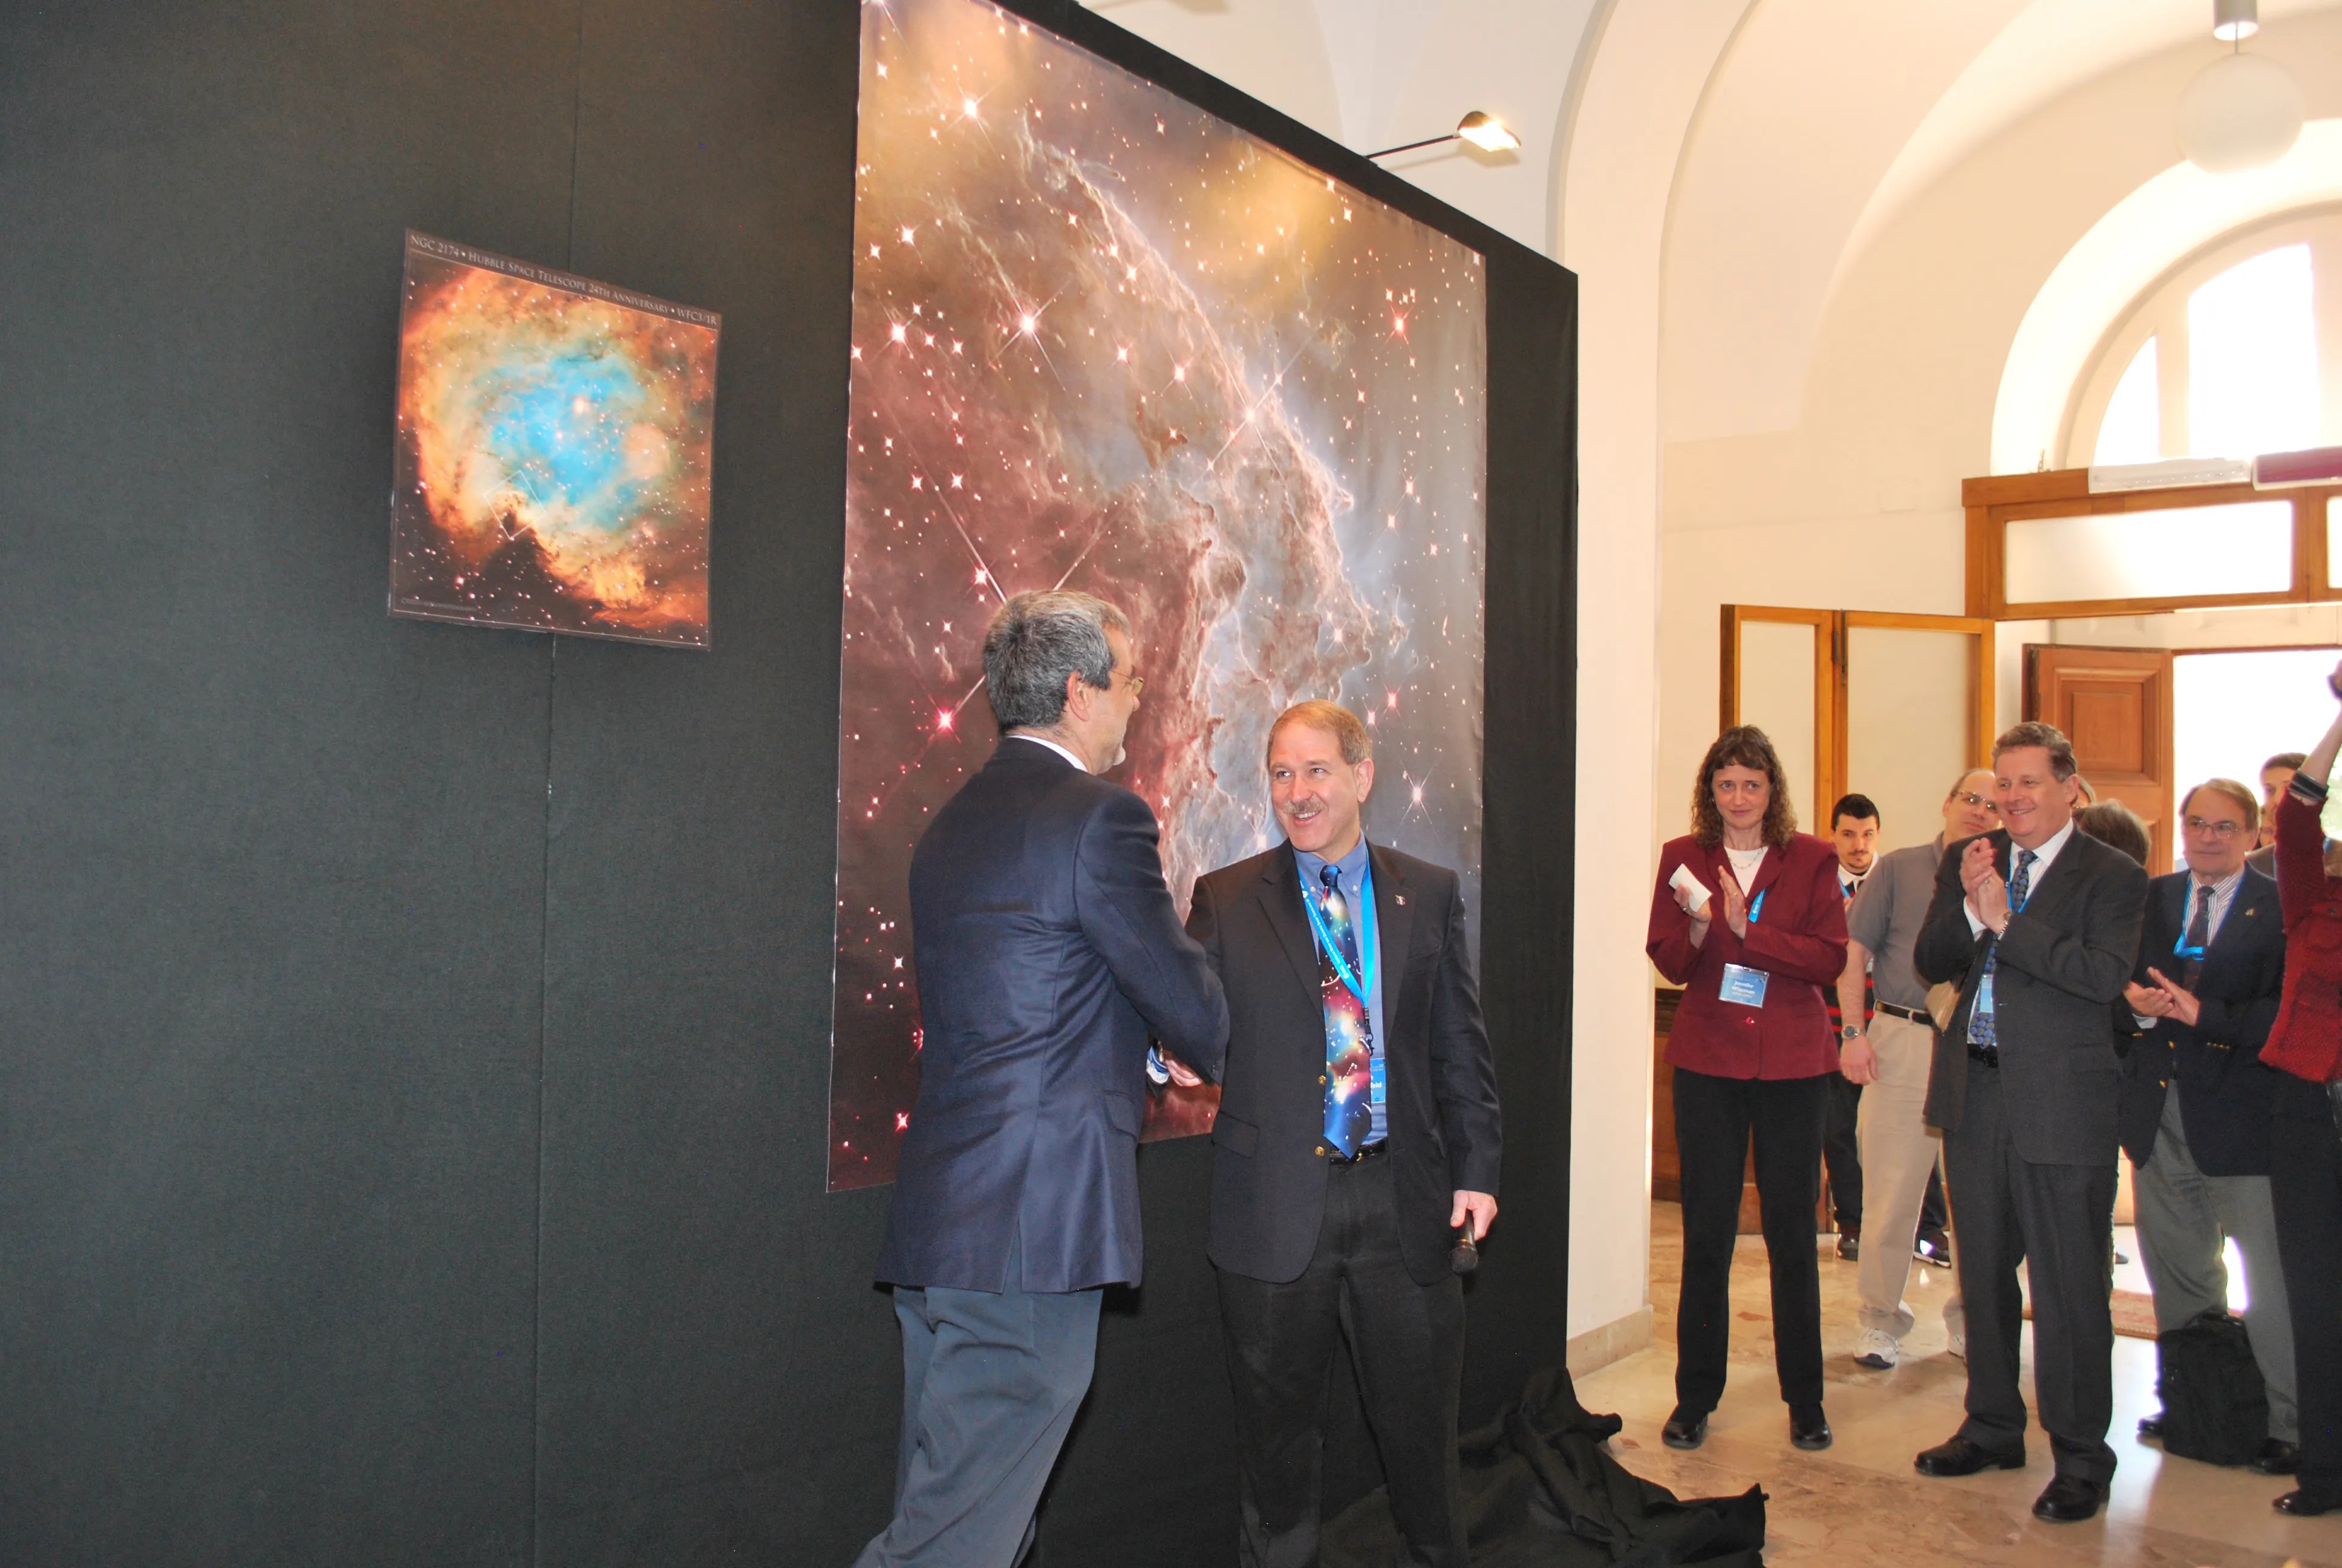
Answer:
M1155 813L1098 778L1145 682L1129 621L1019 593L984 635L1002 741L911 855L925 1024L878 1280L902 1322L895 1519L860 1568L1009 1568L1136 1284L1148 1034L1218 1076L1227 998L1164 886Z

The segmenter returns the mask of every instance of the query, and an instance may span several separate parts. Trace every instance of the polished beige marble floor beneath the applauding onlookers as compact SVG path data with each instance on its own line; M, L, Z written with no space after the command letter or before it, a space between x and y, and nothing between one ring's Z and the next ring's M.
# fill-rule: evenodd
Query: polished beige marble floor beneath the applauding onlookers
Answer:
M1951 1273L1913 1266L1906 1301L1918 1327L1895 1371L1855 1366L1855 1266L1822 1249L1822 1350L1829 1366L1829 1425L1822 1453L1789 1446L1789 1413L1773 1378L1773 1334L1764 1240L1740 1238L1733 1256L1733 1355L1724 1404L1707 1444L1677 1453L1658 1441L1675 1409L1675 1294L1682 1280L1682 1209L1651 1205L1649 1350L1579 1380L1590 1411L1616 1411L1625 1432L1614 1448L1628 1470L1677 1495L1740 1493L1764 1486L1766 1563L1773 1568L1934 1568L2120 1563L2122 1568L2342 1568L2342 1514L2286 1519L2269 1498L2290 1481L2166 1458L2134 1432L2155 1411L2155 1345L2115 1341L2115 1430L2120 1458L2108 1509L2080 1526L2033 1519L2049 1484L2049 1439L2033 1430L2021 1472L1932 1481L1911 1455L1960 1425L1965 1369L1944 1348L1942 1301ZM2122 1252L2136 1256L2127 1230ZM2131 1266L2136 1268L2136 1263ZM2124 1270L2129 1273L2129 1270ZM2134 1277L2117 1284L2143 1289ZM2031 1334L2031 1331L2028 1331ZM2033 1402L2031 1355L2026 1402Z

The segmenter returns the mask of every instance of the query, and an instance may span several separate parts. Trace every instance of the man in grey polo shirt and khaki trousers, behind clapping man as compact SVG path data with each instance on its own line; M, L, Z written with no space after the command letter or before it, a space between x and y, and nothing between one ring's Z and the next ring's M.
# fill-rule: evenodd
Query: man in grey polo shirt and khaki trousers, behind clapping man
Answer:
M1937 1195L1942 1139L1927 1130L1927 1071L1934 1059L1934 1020L1927 1017L1927 982L1911 968L1918 933L1934 900L1934 874L1944 846L1974 839L2000 827L1993 806L1993 771L1963 773L1944 797L1944 832L1930 844L1897 848L1878 860L1845 912L1845 975L1838 980L1838 1008L1862 1017L1864 970L1876 987L1876 1013L1869 1024L1848 1022L1838 1036L1838 1071L1848 1083L1867 1085L1855 1139L1862 1146L1862 1170L1869 1205L1869 1247L1862 1252L1857 1284L1862 1289L1862 1341L1855 1362L1885 1371L1902 1362L1902 1338L1911 1331L1911 1308L1904 1284L1911 1282L1913 1235L1932 1228L1942 1245L1942 1219L1923 1219L1927 1195ZM1930 1256L1930 1261L1934 1261ZM1960 1296L1944 1303L1944 1329L1953 1355L1965 1350Z

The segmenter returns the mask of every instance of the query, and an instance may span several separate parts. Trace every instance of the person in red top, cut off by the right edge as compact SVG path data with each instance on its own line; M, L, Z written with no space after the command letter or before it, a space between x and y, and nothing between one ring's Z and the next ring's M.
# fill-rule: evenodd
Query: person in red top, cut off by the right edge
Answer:
M2328 677L2342 698L2342 666ZM2276 902L2286 912L2286 991L2260 1048L2274 1066L2269 1202L2293 1308L2302 1465L2286 1514L2342 1509L2342 853L2319 809L2342 750L2342 715L2276 799Z

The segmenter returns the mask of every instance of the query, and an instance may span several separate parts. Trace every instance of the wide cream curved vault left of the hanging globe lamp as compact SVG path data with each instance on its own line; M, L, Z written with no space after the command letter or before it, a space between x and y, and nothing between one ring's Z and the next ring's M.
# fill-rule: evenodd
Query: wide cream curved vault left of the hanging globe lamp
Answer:
M2283 33L2337 5L2262 0L2262 14ZM1897 211L2019 120L2190 47L2223 49L2209 0L1761 0L1675 190L1668 441L1796 427L1831 293Z

